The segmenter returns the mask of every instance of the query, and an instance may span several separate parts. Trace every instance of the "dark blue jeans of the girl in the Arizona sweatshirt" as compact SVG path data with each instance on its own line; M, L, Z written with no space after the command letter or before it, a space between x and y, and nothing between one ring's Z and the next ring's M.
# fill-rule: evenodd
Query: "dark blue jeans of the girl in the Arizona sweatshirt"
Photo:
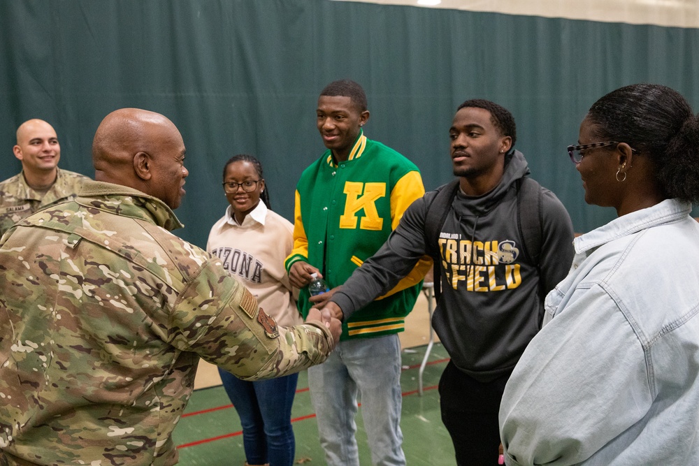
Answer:
M298 374L243 381L219 369L221 381L243 425L245 458L250 465L292 466L296 443L291 428Z

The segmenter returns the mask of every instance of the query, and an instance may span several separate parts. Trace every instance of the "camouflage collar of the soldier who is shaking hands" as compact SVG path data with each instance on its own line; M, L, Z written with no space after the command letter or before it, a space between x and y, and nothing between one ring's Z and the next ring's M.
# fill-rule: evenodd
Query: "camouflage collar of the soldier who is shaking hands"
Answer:
M175 216L175 212L160 199L120 184L92 180L85 182L75 201L124 217L151 221L168 231L184 226Z

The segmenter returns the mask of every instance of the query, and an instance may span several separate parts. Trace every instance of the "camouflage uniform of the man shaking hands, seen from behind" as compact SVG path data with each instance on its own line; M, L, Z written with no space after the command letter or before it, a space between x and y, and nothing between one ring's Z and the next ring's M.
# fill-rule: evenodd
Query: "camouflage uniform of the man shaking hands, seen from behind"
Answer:
M172 465L199 357L242 379L321 363L161 201L86 182L0 242L0 464Z

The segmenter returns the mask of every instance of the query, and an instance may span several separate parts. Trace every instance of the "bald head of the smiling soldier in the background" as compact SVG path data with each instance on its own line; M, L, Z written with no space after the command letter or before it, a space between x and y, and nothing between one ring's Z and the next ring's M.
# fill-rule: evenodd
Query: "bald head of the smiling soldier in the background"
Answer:
M43 119L29 119L17 128L17 144L12 148L22 161L25 176L55 173L61 159L61 145L53 126Z

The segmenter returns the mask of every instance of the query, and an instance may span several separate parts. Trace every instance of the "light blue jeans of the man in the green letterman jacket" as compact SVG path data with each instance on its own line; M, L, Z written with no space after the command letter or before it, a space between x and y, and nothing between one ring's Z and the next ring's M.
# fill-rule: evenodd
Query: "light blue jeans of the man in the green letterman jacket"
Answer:
M358 393L372 463L405 465L398 335L338 343L324 363L308 369L308 386L329 466L359 466L354 438Z

